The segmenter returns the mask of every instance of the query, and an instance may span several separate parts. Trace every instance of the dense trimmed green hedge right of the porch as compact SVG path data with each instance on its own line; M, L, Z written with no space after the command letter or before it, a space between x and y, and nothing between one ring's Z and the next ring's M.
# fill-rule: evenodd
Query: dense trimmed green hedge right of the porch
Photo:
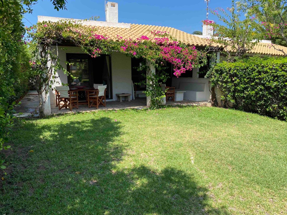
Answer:
M250 57L216 64L208 73L224 104L287 120L287 58Z

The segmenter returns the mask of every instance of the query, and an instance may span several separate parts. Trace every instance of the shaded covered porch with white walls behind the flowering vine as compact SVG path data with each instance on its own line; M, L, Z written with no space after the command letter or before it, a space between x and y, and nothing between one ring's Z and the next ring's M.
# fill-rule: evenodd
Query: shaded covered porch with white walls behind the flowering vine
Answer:
M143 108L147 107L148 99L143 91L146 89L144 84L145 71L138 71L136 68L141 64L141 59L130 58L123 53L113 52L110 55L101 54L99 57L92 58L88 54L83 53L79 47L66 46L65 49L59 50L59 58L63 67L67 68L70 74L76 79L58 71L57 83L53 85L53 88L59 83L68 84L70 89L73 87L91 87L101 84L106 85L106 107L99 106L99 109L120 109L122 108ZM66 62L69 62L67 65ZM154 72L157 73L155 68ZM183 91L182 99L176 99L177 101L168 101L166 105L176 104L193 104L193 103L206 103L210 101L210 92L208 90L208 80L202 77L198 77L197 71L188 71L187 77L177 78L173 75L172 65L168 65L166 73L170 75L170 78L165 82L166 86L174 87L176 90ZM194 74L193 74L194 73ZM183 76L183 75L182 75ZM143 83L135 85L135 83ZM200 85L200 86L199 86ZM184 86L184 88L182 87ZM117 102L117 94L129 93L131 94L130 102ZM194 94L194 96L185 96L185 94ZM200 94L198 96L197 94ZM50 90L49 98L51 114L57 112L66 112L67 110L57 110L55 91ZM84 92L79 92L79 101L86 100ZM181 100L181 101L178 101ZM85 110L86 106L80 105L78 110ZM77 112L77 110L72 110Z

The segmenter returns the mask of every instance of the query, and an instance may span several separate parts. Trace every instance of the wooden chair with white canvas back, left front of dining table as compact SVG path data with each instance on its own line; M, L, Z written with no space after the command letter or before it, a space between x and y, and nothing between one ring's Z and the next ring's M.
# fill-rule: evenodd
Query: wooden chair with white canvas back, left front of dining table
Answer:
M69 91L68 86L57 86L56 90L59 110L61 110L63 107L69 107L70 110L72 110L74 107L77 109L79 108L78 91ZM61 102L63 102L62 106Z

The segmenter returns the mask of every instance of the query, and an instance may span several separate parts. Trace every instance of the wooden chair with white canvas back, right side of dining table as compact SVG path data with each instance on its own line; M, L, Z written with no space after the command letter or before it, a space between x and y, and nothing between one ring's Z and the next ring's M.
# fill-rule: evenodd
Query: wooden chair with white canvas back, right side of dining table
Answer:
M99 105L106 107L106 87L107 85L98 86L98 89L87 91L89 108L96 107L98 109Z

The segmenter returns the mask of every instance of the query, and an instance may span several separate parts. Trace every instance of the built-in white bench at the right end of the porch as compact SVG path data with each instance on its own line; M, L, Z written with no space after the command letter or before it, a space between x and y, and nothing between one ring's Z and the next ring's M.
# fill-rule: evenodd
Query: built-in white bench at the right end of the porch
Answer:
M205 83L180 82L179 90L186 91L183 99L191 101L205 101Z

